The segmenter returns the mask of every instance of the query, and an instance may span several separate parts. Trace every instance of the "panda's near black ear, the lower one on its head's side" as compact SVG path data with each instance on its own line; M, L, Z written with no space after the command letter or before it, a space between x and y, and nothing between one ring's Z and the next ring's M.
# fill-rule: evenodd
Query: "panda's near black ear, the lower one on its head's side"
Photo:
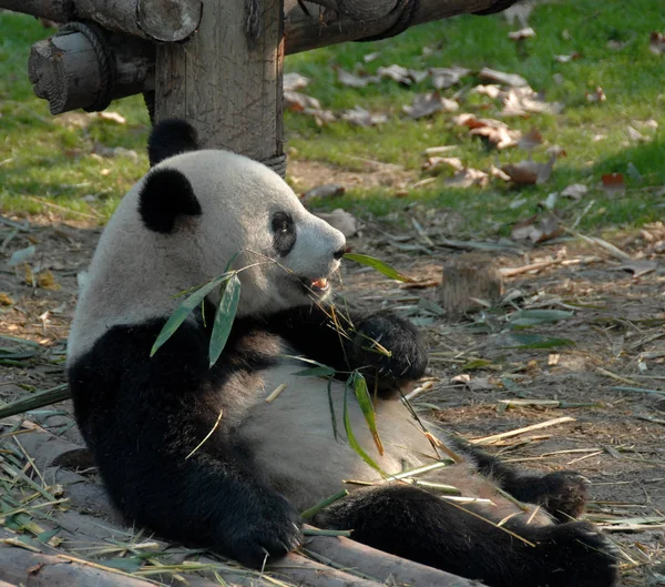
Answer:
M168 234L182 216L201 215L190 180L175 169L158 169L145 176L139 194L139 213L151 231Z

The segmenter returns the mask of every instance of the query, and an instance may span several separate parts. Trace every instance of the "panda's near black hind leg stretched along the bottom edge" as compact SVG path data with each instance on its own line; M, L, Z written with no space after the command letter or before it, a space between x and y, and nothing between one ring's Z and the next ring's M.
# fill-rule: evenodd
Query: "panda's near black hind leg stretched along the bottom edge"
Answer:
M389 485L354 492L315 522L352 529L351 537L368 546L489 587L616 583L613 547L591 524L534 526L512 518L497 527L469 512L472 507L460 508L419 488Z

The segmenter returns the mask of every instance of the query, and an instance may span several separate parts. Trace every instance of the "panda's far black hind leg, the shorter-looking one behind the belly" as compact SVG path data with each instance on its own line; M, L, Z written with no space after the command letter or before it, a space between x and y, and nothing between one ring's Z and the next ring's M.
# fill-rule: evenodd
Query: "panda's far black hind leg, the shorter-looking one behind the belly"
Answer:
M471 457L479 473L492 479L516 499L542 506L559 522L577 518L584 510L591 486L574 470L539 475L510 467L477 446L454 436L446 439L453 451Z

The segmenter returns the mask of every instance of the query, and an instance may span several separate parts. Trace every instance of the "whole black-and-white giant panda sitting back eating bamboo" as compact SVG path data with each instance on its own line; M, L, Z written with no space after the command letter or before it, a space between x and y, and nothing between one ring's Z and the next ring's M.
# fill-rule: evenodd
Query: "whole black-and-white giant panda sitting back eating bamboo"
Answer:
M515 470L427 423L431 434L423 434L400 402L428 362L417 330L388 313L332 314L340 232L266 166L197 150L183 121L155 126L149 155L151 170L101 235L66 361L76 422L126 518L257 567L298 546L300 513L355 487L344 479L375 482L323 509L315 524L490 587L615 585L610 543L575 519L586 479ZM209 366L218 292L151 357L178 294L229 261L241 296L219 360ZM354 370L365 375L382 455L355 395L337 379L297 375L311 366L301 360L337 370L342 381ZM453 454L457 463L430 480L484 502L459 505L382 478L349 446L345 394L350 428L382 472ZM532 506L523 510L505 493Z

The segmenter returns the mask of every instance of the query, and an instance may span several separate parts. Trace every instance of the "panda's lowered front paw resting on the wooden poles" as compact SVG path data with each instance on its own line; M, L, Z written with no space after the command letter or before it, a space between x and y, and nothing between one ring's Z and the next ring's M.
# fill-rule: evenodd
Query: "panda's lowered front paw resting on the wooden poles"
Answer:
M239 513L231 535L228 554L238 563L262 568L266 561L280 558L301 542L301 520L294 507L280 496L264 503L259 512Z

